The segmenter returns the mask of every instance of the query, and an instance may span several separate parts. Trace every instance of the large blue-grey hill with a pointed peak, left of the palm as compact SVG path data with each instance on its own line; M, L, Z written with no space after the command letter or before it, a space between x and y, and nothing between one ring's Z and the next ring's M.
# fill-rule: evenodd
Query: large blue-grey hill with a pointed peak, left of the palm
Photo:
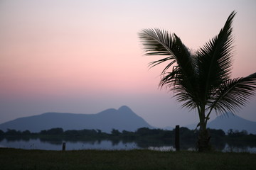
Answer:
M134 131L138 128L152 128L149 123L135 114L127 106L122 106L118 110L107 109L97 114L73 114L73 113L43 113L25 118L17 118L0 125L0 129L6 131L30 130L40 132L50 128L63 128L63 130L98 129L104 132Z

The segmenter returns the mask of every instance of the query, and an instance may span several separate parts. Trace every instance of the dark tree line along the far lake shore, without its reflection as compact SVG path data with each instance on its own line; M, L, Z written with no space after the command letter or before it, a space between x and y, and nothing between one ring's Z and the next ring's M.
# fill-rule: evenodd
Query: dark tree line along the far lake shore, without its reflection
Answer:
M256 135L248 134L246 130L228 130L224 132L223 130L208 129L212 139L211 140L223 140L223 139L236 139L236 140L249 140L252 139L256 142ZM195 140L198 135L198 130L189 130L188 128L180 128L180 138L182 140ZM163 130L163 129L150 129L150 128L139 128L134 132L112 129L110 133L102 132L102 130L63 130L63 128L51 128L49 130L41 130L41 132L30 132L29 130L13 130L8 129L6 132L0 130L1 137L68 137L70 139L82 139L82 138L97 138L97 139L107 139L107 138L145 138L145 139L160 139L160 140L170 140L175 137L174 130Z

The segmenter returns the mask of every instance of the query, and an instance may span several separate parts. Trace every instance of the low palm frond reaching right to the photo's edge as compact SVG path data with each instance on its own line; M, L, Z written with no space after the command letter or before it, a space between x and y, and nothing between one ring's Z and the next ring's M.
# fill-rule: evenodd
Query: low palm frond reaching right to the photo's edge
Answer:
M217 113L236 113L245 106L248 99L256 92L256 72L247 77L229 79L220 85L210 110Z

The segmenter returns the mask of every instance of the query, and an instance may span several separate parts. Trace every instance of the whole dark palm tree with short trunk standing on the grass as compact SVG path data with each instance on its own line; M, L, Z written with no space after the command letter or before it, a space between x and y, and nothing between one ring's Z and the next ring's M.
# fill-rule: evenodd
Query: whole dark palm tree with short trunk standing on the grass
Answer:
M199 117L198 151L210 149L207 121L210 113L237 113L256 91L256 72L231 79L233 57L233 11L220 33L197 52L191 52L178 38L161 29L145 29L139 33L145 55L163 56L151 62L155 67L166 63L159 86L174 91L182 107L196 109Z

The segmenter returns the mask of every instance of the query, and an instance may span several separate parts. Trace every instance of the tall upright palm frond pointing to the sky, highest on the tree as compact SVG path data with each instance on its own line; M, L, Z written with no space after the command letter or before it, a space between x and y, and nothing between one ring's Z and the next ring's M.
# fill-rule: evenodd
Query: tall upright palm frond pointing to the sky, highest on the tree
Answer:
M198 50L201 95L206 101L213 96L211 92L215 91L216 87L230 79L233 56L231 25L234 16L235 11L230 14L218 36Z

